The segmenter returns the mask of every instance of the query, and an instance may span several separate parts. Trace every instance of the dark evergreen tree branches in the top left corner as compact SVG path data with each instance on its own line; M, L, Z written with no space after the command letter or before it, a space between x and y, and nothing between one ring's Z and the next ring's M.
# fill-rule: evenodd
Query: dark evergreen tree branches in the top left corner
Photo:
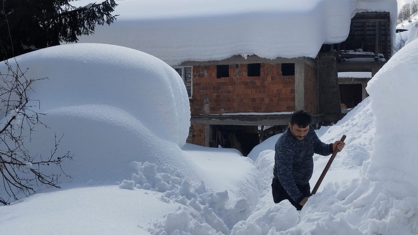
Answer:
M111 24L117 4L73 7L77 0L0 0L0 61L29 51L77 42L94 32L96 24Z

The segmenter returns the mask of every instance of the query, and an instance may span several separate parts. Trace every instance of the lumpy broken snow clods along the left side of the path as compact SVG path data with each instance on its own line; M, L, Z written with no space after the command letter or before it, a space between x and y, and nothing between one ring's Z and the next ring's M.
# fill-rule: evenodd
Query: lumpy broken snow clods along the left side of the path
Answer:
M171 168L160 169L161 167L148 162L133 162L132 166L137 168L138 172L132 175L131 180L124 180L119 188L159 191L162 192L161 201L185 205L154 222L154 227L148 229L151 234L173 234L173 232L180 231L185 235L229 234L234 224L247 219L252 213L254 204L249 201L252 196L236 194L232 198L237 195L239 198L232 201L228 190L215 192L212 188L207 188L203 181L193 186L195 185L193 182L181 178L181 174ZM172 175L177 175L177 177ZM254 179L256 175L250 174L247 177ZM246 186L251 189L253 182L254 180L246 182ZM256 197L256 192L257 190L252 190L247 194L255 193Z

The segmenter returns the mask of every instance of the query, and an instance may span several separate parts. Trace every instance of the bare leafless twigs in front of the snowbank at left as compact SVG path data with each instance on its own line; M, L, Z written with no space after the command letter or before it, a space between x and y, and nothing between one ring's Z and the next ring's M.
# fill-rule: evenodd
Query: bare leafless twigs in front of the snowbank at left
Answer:
M15 61L16 65L17 62ZM29 196L35 193L35 186L60 188L58 179L61 174L69 177L61 166L66 160L72 160L69 152L57 157L57 150L61 138L55 135L55 146L47 157L41 154L31 154L24 143L31 141L35 127L48 128L39 117L45 115L37 112L39 100L30 99L28 93L32 91L32 84L39 79L28 79L17 65L15 69L5 61L7 71L0 71L0 113L4 115L0 122L0 203L9 204L23 194ZM45 173L50 165L59 167L57 173Z

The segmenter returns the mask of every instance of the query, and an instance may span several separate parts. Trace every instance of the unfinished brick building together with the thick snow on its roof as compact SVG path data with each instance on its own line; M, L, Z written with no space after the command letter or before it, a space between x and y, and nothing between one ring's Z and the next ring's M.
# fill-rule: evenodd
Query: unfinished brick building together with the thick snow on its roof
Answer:
M341 119L341 100L356 105L367 81L339 81L338 72L375 74L395 40L395 0L134 2L120 1L118 22L81 41L138 49L172 66L189 95L187 141L244 156L281 133L295 110L312 113L314 126Z

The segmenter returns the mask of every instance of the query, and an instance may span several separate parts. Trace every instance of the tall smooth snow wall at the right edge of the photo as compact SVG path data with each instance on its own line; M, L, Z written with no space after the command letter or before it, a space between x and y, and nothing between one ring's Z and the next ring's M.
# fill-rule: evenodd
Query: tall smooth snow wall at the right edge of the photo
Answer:
M391 63L384 66L367 87L373 97L372 108L376 115L377 131L376 148L366 175L373 181L383 183L385 187L382 190L396 198L400 198L397 192L402 188L409 189L408 196L416 196L418 193L418 173L415 167L418 164L418 130L414 125L418 104L407 102L415 99L418 87L415 76L418 73L418 54L409 51L418 51L417 40L396 53L390 59ZM399 76L399 71L406 70L410 73ZM400 100L403 102L399 102ZM388 108L391 110L390 116L385 115ZM388 128L390 131L386 130Z

